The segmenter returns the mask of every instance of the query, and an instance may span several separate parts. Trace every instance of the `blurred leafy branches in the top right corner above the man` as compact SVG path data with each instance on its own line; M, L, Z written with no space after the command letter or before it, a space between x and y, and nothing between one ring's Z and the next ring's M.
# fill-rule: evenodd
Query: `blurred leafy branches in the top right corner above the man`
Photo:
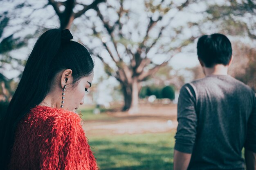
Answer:
M252 32L256 26L255 0L225 0L224 4L212 4L207 8L209 19L220 25L221 31L228 35L246 35L256 39Z

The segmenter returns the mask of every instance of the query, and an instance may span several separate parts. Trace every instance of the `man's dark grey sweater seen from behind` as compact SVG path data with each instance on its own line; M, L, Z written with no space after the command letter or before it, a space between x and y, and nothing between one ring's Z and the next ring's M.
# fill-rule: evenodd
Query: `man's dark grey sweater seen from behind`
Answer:
M252 89L231 76L211 75L184 85L175 149L192 153L188 169L244 169L241 150L255 142L247 135L254 130L248 121L256 122L249 120L255 103Z

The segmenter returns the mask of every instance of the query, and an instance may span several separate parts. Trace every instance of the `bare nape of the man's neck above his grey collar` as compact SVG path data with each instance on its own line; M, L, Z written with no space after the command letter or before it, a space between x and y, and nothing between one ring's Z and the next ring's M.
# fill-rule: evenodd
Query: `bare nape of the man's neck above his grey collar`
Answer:
M222 65L222 64L217 64L217 65L214 65L211 68L203 67L203 70L204 70L205 76L227 75L228 66L227 65Z

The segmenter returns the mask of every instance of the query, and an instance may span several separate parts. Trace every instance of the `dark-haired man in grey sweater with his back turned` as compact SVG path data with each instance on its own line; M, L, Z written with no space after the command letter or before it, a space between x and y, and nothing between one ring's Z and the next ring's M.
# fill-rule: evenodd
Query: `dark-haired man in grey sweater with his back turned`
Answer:
M256 170L256 98L227 74L229 39L204 35L197 44L205 78L182 87L178 100L174 170Z

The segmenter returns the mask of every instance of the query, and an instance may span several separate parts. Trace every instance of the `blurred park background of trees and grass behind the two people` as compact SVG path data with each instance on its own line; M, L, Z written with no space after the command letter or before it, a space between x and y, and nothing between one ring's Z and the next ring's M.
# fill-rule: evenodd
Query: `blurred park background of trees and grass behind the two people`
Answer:
M256 90L255 0L0 0L1 115L36 39L56 27L92 50L79 110L101 170L173 168L179 90L204 77L201 35L227 35L229 74Z

